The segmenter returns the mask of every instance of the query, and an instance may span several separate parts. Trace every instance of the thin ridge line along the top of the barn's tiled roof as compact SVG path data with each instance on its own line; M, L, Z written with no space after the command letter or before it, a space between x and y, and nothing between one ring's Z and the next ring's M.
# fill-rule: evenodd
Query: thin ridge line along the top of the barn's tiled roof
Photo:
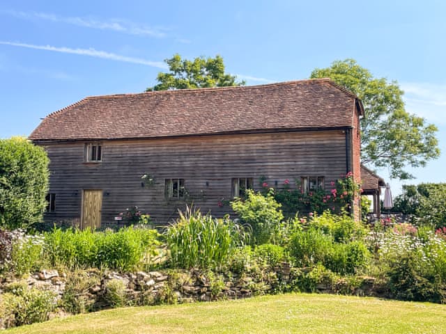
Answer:
M203 91L210 92L214 90L245 90L245 89L256 89L261 87L274 87L274 86L284 86L284 85L290 85L290 84L302 84L302 83L310 83L310 82L330 82L332 79L330 78L316 78L316 79L301 79L301 80L291 80L291 81L281 81L281 82L273 82L270 84L259 84L259 85L252 85L252 86L224 86L224 87L206 87L206 88L184 88L184 89L172 89L172 90L153 90L149 92L141 92L141 93L121 93L121 94L107 94L107 95L91 95L84 97L83 100L86 99L97 99L102 97L128 97L130 95L146 95L146 94L180 94L180 93L200 93ZM341 89L341 86L338 86L337 88ZM346 92L344 92L346 93Z

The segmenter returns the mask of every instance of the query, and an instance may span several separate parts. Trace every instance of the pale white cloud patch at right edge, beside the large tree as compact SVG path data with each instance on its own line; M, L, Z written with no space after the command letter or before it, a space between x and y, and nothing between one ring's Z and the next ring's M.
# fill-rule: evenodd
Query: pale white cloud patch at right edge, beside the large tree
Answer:
M406 109L430 122L446 125L446 84L403 82Z

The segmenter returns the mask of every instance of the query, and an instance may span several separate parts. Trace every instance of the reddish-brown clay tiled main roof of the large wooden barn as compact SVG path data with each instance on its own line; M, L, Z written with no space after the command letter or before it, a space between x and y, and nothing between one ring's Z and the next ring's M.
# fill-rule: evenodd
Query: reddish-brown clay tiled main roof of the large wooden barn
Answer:
M330 79L93 96L49 114L29 138L151 138L351 127L356 100Z

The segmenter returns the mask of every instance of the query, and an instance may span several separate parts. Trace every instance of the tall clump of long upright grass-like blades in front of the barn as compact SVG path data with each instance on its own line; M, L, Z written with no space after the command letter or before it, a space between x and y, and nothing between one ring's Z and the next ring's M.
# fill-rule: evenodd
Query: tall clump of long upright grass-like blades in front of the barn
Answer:
M240 230L229 218L214 219L210 214L187 207L166 233L172 265L180 268L217 268L229 258L240 241Z

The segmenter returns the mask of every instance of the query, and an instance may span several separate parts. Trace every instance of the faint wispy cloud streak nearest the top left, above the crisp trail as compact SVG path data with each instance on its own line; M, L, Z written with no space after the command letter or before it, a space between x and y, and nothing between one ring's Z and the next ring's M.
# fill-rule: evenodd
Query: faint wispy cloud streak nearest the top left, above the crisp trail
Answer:
M17 10L0 10L0 14L10 15L27 20L43 19L50 22L61 22L91 29L128 33L130 35L145 35L156 38L162 38L166 36L166 29L160 27L151 27L146 24L137 24L125 19L101 20L93 17L65 17L52 13L22 12Z

